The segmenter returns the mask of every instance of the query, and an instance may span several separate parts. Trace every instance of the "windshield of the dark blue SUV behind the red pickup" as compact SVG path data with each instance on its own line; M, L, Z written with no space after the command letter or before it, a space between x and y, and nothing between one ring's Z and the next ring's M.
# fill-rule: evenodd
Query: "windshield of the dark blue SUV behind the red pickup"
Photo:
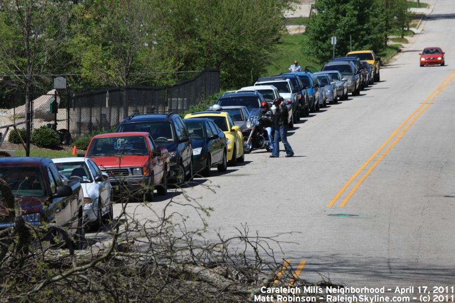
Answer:
M125 123L119 126L118 131L145 131L152 135L155 142L173 142L175 139L169 121Z

